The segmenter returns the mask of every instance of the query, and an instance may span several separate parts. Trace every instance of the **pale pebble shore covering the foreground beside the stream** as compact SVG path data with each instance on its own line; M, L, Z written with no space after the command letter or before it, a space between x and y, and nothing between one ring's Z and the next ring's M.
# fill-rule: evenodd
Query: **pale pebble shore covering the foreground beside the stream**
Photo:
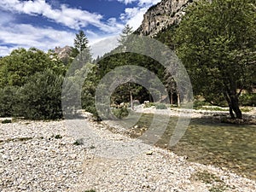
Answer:
M66 121L0 124L1 191L255 191L256 183L228 170L189 162L185 157L143 145L137 155L106 156L104 141L134 142L84 119L91 132L77 145ZM88 132L90 132L88 130ZM139 145L138 145L139 146ZM111 148L110 148L111 150ZM122 153L124 148L115 148Z

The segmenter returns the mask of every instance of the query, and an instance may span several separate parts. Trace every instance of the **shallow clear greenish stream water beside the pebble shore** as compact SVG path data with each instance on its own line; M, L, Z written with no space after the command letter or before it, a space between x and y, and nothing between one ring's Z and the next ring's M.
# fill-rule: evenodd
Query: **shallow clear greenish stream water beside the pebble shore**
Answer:
M131 137L142 135L152 118L152 114L143 114L137 122L137 129L132 129ZM163 115L163 118L166 117ZM160 119L157 124L161 124ZM218 119L191 119L179 143L169 147L176 124L177 118L172 117L157 146L185 155L190 161L225 167L256 180L256 125L229 125L220 123Z

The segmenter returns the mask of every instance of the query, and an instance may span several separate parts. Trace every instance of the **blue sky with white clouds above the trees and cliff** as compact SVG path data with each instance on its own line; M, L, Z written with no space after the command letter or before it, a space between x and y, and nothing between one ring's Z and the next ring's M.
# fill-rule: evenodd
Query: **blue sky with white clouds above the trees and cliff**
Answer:
M92 54L116 46L126 24L134 30L143 14L160 0L1 0L0 56L13 49L36 47L47 51L73 46L83 30Z

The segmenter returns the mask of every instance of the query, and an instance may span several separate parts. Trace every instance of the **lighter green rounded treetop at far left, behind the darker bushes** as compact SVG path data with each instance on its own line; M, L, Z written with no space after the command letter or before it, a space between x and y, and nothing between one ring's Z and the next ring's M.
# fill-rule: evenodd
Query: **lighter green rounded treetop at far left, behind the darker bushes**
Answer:
M66 67L55 55L45 54L42 50L15 49L0 60L0 88L4 86L22 86L34 73L51 69L57 74L64 74Z

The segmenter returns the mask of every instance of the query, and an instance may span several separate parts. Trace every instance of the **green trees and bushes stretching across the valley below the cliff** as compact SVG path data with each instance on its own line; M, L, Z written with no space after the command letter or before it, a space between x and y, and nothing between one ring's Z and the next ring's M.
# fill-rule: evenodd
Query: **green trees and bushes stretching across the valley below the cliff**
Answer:
M168 26L154 39L175 51L189 73L196 103L228 107L230 117L242 119L241 106L256 103L256 32L253 1L197 2L189 6L181 23ZM83 82L81 106L96 117L95 91L100 80L115 67L145 67L160 79L168 92L170 106L180 106L179 90L172 75L154 59L135 53L119 53L136 34L127 25L119 36L119 47L93 60L88 39L79 31L72 53L63 61L49 50L15 49L0 59L0 116L25 119L61 119L62 84L72 63L84 62L90 68ZM139 46L139 45L138 45ZM115 54L117 53L117 54ZM73 79L83 71L73 69ZM139 73L138 73L139 76ZM72 91L71 91L72 92ZM70 100L72 100L70 96ZM203 98L203 99L202 99ZM111 105L120 108L117 116L137 103L153 102L142 85L124 82L113 92ZM74 109L76 109L74 104ZM79 108L77 108L79 109Z

